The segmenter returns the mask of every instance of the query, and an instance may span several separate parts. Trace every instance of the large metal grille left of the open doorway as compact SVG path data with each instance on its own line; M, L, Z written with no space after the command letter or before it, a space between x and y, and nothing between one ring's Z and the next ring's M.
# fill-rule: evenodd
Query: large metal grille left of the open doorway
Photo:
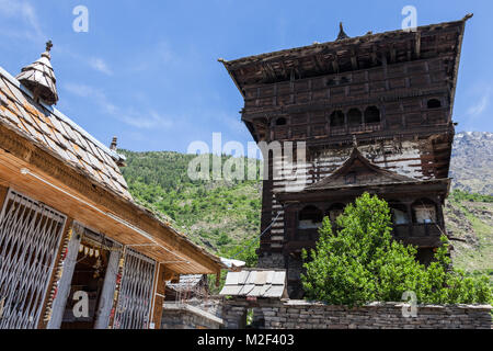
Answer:
M12 190L0 215L0 329L34 329L66 217Z

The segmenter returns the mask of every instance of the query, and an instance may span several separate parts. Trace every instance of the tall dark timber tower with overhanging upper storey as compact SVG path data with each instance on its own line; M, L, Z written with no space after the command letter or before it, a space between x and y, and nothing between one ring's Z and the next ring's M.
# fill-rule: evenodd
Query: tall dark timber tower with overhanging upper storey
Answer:
M300 250L364 191L385 197L394 237L427 262L445 233L452 107L466 21L432 24L219 59L244 98L255 141L306 141L303 190L285 173L264 180L260 267L288 270L302 293ZM348 31L346 30L346 33ZM271 155L270 167L283 156ZM279 214L279 215L278 215ZM278 215L278 216L277 216Z

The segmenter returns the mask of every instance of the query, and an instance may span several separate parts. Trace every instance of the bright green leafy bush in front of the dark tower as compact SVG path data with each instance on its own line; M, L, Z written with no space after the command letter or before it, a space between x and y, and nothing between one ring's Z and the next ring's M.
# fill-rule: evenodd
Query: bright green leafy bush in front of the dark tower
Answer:
M419 303L492 301L486 276L466 276L450 268L445 236L428 267L415 259L415 247L392 240L389 206L376 195L356 199L336 224L340 229L333 233L325 217L316 249L302 252L307 271L301 281L309 299L360 306L401 301L405 291L413 291Z

